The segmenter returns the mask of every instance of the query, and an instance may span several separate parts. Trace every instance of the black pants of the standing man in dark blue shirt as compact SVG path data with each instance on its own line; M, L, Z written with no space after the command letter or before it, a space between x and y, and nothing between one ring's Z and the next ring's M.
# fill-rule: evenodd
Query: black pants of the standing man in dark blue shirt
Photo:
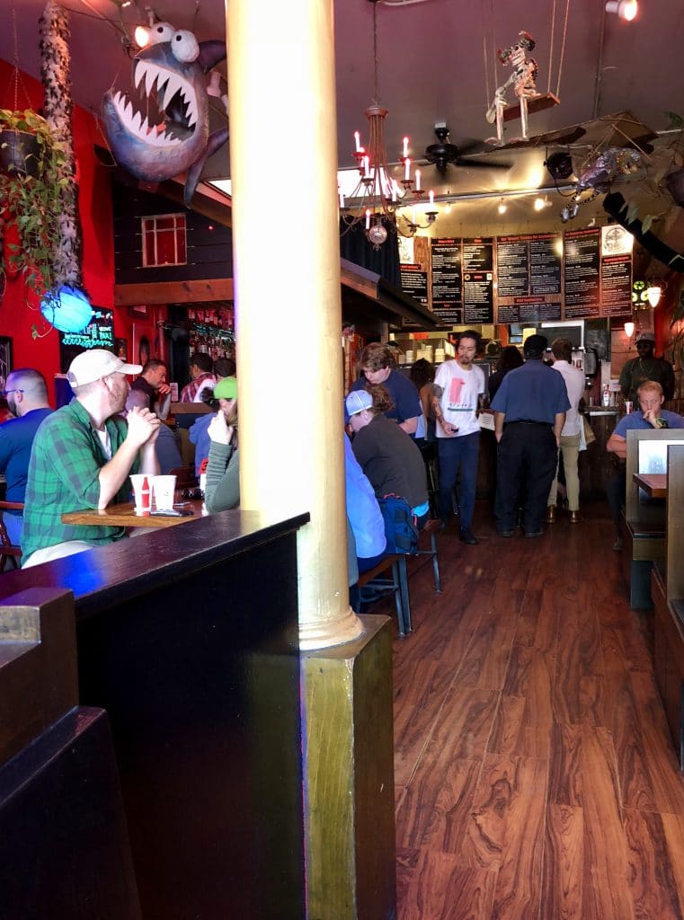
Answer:
M498 530L515 528L522 487L525 533L539 531L546 517L546 502L557 462L558 447L551 425L514 421L504 426L496 476Z

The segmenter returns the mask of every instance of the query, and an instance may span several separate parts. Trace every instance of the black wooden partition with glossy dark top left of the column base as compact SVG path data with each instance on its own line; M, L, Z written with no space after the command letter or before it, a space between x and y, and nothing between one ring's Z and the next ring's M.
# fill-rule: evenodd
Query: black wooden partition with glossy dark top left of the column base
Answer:
M306 914L301 514L223 512L0 579L75 597L79 703L110 718L145 920Z

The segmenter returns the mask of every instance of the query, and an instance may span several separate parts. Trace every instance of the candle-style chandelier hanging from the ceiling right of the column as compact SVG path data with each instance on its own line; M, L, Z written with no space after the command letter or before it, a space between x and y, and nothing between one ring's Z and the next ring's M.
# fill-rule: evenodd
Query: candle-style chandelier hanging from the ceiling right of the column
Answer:
M354 132L354 158L359 171L359 179L354 190L345 197L340 191L340 218L342 235L363 226L365 236L375 249L379 249L388 238L388 230L397 232L396 212L398 207L408 203L423 201L425 190L421 188L421 173L414 169L411 176L412 160L409 156L409 138L403 139L403 151L400 164L403 178L399 183L390 172L387 150L385 147L385 119L388 109L378 103L377 93L377 4L380 0L370 0L373 4L373 101L365 109L368 120L368 145L361 143L360 132ZM406 196L410 196L407 201ZM427 224L433 224L437 216L435 211L435 193L430 191L431 211L425 213ZM400 230L404 236L412 236L421 224L407 222L407 231Z

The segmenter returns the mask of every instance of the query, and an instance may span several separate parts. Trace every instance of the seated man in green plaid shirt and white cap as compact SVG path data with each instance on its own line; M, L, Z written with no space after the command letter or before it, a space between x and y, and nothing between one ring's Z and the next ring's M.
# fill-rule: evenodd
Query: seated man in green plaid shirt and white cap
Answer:
M159 472L157 416L132 408L119 413L128 396L124 374L139 374L111 351L77 355L66 375L75 393L44 420L33 442L24 508L23 568L102 546L125 535L122 527L62 522L66 512L106 508L128 501L132 473Z

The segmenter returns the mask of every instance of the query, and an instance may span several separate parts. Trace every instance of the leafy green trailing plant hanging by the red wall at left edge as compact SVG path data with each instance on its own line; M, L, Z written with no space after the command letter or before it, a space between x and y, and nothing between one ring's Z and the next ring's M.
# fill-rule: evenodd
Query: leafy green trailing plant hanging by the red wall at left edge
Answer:
M18 164L0 169L5 241L0 276L19 273L29 290L41 296L52 290L54 253L60 245L61 196L68 181L64 149L38 112L0 109L0 153L17 151Z

